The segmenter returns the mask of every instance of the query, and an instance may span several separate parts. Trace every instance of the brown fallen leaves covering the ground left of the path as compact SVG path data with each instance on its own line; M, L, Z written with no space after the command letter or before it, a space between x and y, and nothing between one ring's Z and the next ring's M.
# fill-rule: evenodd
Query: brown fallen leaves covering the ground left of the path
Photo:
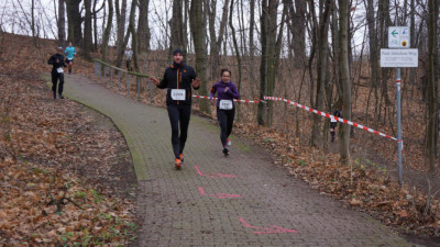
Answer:
M81 105L51 99L35 78L47 66L13 66L23 59L0 60L0 245L127 245L133 203L113 187L113 168L131 162L125 141Z

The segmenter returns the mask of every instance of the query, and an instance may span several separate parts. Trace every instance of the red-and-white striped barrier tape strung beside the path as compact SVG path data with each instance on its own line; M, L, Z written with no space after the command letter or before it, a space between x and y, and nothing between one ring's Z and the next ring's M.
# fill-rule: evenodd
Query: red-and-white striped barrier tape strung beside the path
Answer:
M209 99L209 97L204 97L204 96L193 96L193 97L194 97L194 98L199 98L199 99ZM212 98L212 99L213 99L213 100L217 100L217 98ZM353 122L351 122L351 121L344 120L344 119L342 119L342 117L334 116L334 115L329 114L329 113L326 113L326 112L321 112L321 111L318 111L318 110L314 110L314 109L311 109L311 108L308 108L308 106L302 105L302 104L298 104L298 103L296 103L296 102L294 102L294 101L290 101L290 100L286 100L286 99L277 98L277 97L264 97L264 100L284 101L284 102L286 102L286 103L288 103L288 104L293 104L293 105L295 105L295 106L297 106L297 108L300 108L300 109L304 109L304 110L306 110L306 111L312 112L312 113L315 113L315 114L318 114L318 115L328 117L328 119L330 119L330 120L336 120L336 121L339 121L339 122L341 122L341 123L349 124L349 125L355 126L355 127L358 127L358 128L367 131L367 132L370 132L370 133L373 133L373 134L376 134L376 135L380 135L380 136L383 136L383 137L386 137L386 138L396 141L396 142L398 142L398 143L403 143L403 141L398 141L396 137L393 137L393 136L391 136L391 135L384 134L384 133L378 132L378 131L374 131L373 128L365 127L365 126L363 126L363 125L361 125L361 124L353 123ZM264 102L264 103L265 103L265 101L263 101L263 100L234 100L234 101L237 101L237 102L245 102L245 103L260 103L260 102Z

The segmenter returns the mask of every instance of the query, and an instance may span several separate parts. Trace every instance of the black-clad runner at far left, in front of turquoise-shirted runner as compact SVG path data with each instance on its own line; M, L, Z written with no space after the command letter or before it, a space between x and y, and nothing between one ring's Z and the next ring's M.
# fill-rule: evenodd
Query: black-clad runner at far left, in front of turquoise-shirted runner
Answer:
M56 99L56 85L58 83L58 96L59 99L64 99L63 97L63 86L64 86L64 69L63 67L66 67L66 64L64 63L64 56L63 56L63 47L57 47L56 48L56 54L52 55L51 58L48 58L47 64L52 65L52 91L54 92L54 99Z

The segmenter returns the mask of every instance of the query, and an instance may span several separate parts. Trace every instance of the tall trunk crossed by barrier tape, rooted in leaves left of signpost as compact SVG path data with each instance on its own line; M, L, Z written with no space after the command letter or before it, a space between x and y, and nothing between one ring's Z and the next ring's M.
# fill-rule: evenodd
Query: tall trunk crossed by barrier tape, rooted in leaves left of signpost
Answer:
M345 120L351 120L351 82L349 69L349 1L339 0L339 31L340 31L340 70L342 81L342 115ZM341 126L342 137L340 146L341 162L345 166L350 165L350 125Z

